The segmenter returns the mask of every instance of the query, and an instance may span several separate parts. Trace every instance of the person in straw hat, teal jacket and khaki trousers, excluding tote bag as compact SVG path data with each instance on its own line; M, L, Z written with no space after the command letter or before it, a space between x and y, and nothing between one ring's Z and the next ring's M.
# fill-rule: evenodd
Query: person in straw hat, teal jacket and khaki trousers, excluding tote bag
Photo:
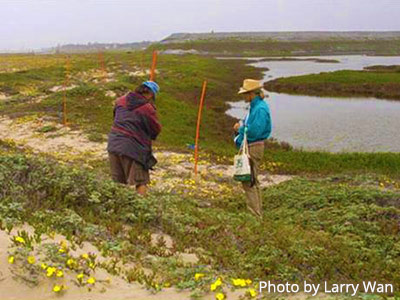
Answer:
M246 103L250 103L243 125L236 123L233 127L236 132L234 139L236 146L241 147L245 130L249 145L252 179L242 182L242 186L246 193L247 208L252 214L261 218L262 197L257 175L264 156L265 140L271 134L271 113L268 104L264 101L265 96L260 81L245 79L238 94L244 97Z

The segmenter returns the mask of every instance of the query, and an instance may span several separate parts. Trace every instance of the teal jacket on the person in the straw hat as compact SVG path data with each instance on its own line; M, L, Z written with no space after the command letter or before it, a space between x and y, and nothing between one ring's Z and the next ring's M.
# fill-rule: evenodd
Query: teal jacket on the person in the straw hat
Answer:
M239 128L235 144L240 147L243 142L244 128L247 126L247 141L249 144L267 139L271 135L272 123L268 104L259 96L250 102L250 111Z

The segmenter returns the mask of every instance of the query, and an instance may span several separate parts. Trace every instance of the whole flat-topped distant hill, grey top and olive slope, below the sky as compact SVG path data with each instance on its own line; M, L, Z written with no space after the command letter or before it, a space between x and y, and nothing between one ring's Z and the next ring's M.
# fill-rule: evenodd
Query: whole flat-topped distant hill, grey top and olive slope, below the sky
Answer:
M400 55L400 31L174 33L152 47L212 56Z

